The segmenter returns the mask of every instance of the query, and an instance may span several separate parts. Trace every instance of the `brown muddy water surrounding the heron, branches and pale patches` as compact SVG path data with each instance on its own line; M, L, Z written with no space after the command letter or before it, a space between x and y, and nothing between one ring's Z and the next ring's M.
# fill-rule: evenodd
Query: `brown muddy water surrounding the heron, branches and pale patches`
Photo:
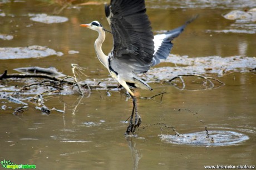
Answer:
M174 40L173 54L191 58L255 57L255 34L221 32L233 29L234 24L221 14L246 8L246 5L217 2L149 1L147 12L155 33L178 27L194 14L200 14ZM250 8L256 7L254 1L247 3ZM5 13L5 17L0 18L0 33L13 35L12 40L0 39L1 47L41 45L64 53L46 58L0 60L1 72L16 73L12 69L27 66L54 66L63 74L72 75L70 64L76 63L86 68L85 74L91 79L109 78L93 49L97 33L78 27L81 23L99 20L109 28L103 6L66 9L59 15L68 21L56 24L29 19L28 13L51 15L57 9L45 3L9 2L3 3L0 9ZM111 47L108 34L104 44L106 53ZM80 53L68 54L69 50ZM249 69L252 68L245 70ZM14 116L14 108L21 105L2 99L0 105L6 105L6 109L0 110L0 159L14 164L35 164L37 169L204 169L204 165L216 164L256 165L255 74L236 70L221 77L211 76L225 85L211 90L181 91L167 84L151 83L154 92L137 90L137 95L143 97L166 92L162 103L160 96L154 100L138 99L142 125L137 138L123 136L127 126L123 121L130 115L132 103L120 91L109 91L109 95L106 90L92 90L90 97L45 96L47 107L65 109L65 114L52 111L50 115L43 115L29 105L28 111ZM173 128L163 123L175 127L180 134L205 131L207 127L209 131L242 133L249 140L230 146L178 145L161 140L161 134L175 135Z

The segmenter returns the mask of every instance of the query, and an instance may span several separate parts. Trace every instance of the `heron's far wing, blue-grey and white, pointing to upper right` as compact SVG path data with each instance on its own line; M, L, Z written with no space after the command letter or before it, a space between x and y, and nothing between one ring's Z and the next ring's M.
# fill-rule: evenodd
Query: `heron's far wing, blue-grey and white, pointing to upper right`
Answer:
M183 32L186 25L193 22L193 20L197 17L198 16L191 18L181 27L170 30L169 32L166 32L164 34L157 34L154 36L155 53L152 61L152 66L159 64L160 59L165 60L169 56L171 48L173 48L173 43L171 43L171 40L178 37L180 33Z

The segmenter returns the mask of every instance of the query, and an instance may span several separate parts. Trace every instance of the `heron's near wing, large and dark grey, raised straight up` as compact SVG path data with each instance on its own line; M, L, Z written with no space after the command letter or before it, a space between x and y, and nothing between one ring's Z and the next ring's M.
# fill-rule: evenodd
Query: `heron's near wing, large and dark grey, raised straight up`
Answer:
M111 67L144 73L152 65L153 33L144 0L111 0L105 6L114 39ZM125 68L124 68L125 67Z

